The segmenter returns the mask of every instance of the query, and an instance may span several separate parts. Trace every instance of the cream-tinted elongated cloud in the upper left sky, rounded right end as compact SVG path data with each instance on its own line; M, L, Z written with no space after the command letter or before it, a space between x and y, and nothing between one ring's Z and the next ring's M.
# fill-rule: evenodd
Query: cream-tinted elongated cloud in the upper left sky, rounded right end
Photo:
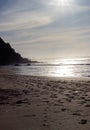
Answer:
M34 16L34 17L33 17ZM51 17L38 13L26 13L18 14L15 18L13 16L8 17L10 21L0 23L0 31L14 31L31 29L39 26L44 26L52 22Z

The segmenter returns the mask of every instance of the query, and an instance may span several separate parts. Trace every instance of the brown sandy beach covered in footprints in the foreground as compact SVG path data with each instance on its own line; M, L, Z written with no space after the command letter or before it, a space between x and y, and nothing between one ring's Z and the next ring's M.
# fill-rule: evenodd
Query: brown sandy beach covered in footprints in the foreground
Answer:
M90 130L90 81L0 69L0 130Z

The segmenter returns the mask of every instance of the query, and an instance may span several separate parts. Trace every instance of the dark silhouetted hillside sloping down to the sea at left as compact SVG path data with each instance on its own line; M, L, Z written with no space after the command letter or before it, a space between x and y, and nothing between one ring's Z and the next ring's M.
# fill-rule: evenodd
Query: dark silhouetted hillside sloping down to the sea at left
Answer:
M0 65L27 62L30 62L30 60L23 58L19 53L15 52L9 43L5 43L3 39L0 38Z

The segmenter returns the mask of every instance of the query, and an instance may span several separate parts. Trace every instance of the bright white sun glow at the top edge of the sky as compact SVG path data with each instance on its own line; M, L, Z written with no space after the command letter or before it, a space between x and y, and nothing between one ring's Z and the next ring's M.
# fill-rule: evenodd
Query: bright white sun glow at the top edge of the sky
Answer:
M72 13L73 10L75 10L75 0L48 0L47 7L52 10L53 13L55 13L55 17L58 16L58 14L68 14Z

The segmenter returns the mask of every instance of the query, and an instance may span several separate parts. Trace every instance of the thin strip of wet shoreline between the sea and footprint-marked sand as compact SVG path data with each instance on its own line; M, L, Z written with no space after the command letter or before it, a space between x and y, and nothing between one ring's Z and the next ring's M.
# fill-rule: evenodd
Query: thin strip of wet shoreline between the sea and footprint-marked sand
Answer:
M17 71L15 71L14 69L17 69ZM45 75L44 76L44 75L37 75L37 73L36 73L36 75L35 74L31 75L30 73L27 72L27 70L23 73L19 69L20 68L14 68L14 66L13 67L1 66L1 68L0 68L0 70L3 70L4 72L6 70L5 74L8 71L8 73L11 73L11 74L14 74L14 75L41 77L41 78L49 78L49 79L51 78L51 79L56 79L56 80L58 80L58 79L59 80L85 80L85 81L90 80L90 76L89 75L87 75L87 77L85 77L85 76L77 76L77 77L76 76L53 76L53 75L51 75L51 76ZM20 72L20 73L18 73L18 72Z

